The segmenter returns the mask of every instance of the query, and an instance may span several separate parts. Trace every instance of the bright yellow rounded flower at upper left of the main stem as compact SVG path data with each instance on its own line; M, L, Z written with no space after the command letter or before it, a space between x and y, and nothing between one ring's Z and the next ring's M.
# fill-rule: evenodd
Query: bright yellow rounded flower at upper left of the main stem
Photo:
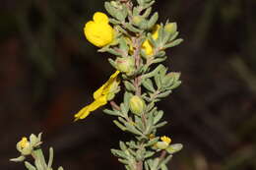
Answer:
M94 21L88 22L84 28L87 39L97 47L112 42L114 29L108 24L108 17L103 13L96 12L93 19Z

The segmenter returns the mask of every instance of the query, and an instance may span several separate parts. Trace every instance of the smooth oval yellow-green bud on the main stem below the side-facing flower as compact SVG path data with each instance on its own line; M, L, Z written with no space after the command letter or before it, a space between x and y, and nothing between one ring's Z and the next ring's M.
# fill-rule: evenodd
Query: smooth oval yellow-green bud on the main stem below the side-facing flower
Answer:
M145 101L138 95L134 95L130 98L130 109L132 113L136 115L142 114L145 109Z

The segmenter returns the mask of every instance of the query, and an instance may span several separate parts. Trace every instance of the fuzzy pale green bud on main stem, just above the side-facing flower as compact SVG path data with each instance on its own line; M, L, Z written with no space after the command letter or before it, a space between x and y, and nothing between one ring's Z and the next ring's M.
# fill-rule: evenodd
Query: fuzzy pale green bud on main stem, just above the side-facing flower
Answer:
M132 76L135 72L135 61L133 57L119 57L115 60L115 64L117 70L128 76Z

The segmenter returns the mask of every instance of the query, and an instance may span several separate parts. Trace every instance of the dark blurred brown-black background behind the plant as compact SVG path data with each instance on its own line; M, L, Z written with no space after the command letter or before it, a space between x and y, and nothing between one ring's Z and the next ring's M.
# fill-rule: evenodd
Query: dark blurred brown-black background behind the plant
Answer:
M184 42L165 62L182 85L160 102L169 124L160 130L184 148L169 163L178 170L256 169L256 1L157 0L160 21L178 23ZM97 110L73 115L113 69L83 28L100 0L1 0L0 167L16 142L43 132L66 170L124 169L109 152L131 136Z

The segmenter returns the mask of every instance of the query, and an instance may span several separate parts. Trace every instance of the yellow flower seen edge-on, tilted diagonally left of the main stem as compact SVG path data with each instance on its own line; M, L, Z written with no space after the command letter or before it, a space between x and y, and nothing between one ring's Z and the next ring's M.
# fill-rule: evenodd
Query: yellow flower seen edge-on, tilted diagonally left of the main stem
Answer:
M98 107L105 105L108 100L114 97L114 94L119 91L120 80L117 76L120 72L116 71L109 80L102 86L100 86L94 92L95 101L85 106L75 115L75 121L79 119L85 119L92 111L95 111Z

